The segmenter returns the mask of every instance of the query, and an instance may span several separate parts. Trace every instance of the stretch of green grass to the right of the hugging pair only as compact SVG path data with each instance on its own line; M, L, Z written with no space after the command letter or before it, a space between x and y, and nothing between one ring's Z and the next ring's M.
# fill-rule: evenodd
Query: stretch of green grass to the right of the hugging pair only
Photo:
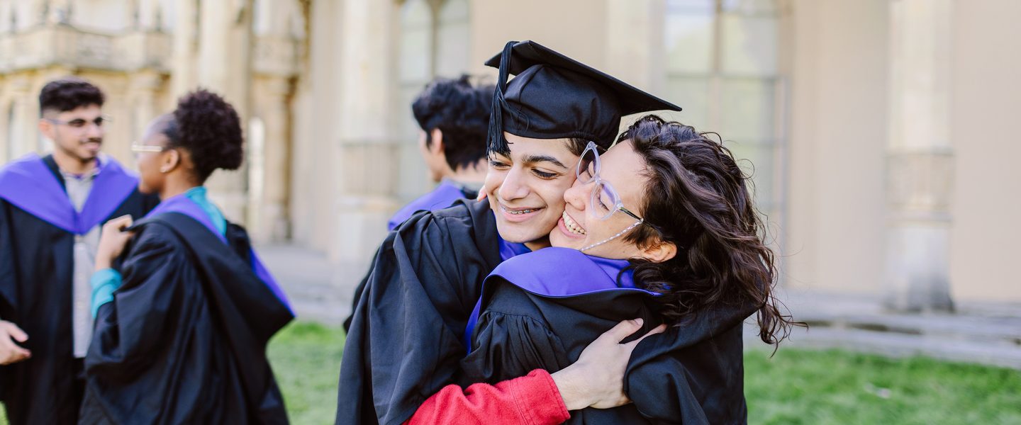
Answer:
M837 350L744 355L748 422L1021 424L1021 371Z

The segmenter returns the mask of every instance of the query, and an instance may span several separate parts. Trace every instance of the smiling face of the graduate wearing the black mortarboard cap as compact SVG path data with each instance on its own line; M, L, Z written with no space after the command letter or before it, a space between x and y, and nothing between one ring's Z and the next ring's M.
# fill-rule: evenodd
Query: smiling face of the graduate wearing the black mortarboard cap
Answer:
M483 187L496 214L496 229L504 241L542 248L564 213L564 192L575 180L578 155L569 149L568 139L503 136L510 153L490 154Z

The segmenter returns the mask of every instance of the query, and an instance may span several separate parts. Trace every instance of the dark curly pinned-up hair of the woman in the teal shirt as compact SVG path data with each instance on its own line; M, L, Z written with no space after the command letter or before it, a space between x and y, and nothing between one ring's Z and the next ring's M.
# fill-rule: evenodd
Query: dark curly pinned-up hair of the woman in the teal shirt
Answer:
M167 147L191 154L195 177L204 182L217 168L238 169L244 160L241 119L230 103L204 89L178 100L178 108L159 119Z

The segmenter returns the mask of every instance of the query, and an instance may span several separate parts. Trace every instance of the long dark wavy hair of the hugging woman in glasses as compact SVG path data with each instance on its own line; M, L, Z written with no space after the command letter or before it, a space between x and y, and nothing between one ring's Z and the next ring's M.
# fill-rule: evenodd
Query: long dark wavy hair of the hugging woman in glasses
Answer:
M715 136L711 138L710 136ZM738 167L718 134L646 115L618 139L630 140L646 164L645 221L626 241L677 246L663 263L632 260L635 280L662 294L662 314L678 323L719 305L759 306L759 336L779 343L794 322L773 296L776 265L763 243L764 222Z

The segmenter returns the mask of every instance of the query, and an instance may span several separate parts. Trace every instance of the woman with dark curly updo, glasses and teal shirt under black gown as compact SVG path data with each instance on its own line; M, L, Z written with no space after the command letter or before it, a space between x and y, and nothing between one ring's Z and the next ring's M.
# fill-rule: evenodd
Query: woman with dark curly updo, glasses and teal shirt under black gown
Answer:
M80 423L287 423L265 346L293 314L202 185L241 166L237 112L189 93L132 150L160 205L104 225Z

